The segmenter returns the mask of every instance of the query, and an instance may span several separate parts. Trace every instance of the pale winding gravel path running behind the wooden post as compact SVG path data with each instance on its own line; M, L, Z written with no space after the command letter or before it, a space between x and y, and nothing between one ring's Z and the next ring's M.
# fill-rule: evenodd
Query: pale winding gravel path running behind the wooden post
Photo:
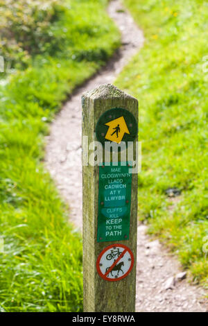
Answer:
M82 227L81 103L84 92L104 83L113 83L128 60L144 43L143 33L113 0L108 14L119 27L122 46L96 76L87 80L64 105L51 124L47 137L46 167L70 205L70 219ZM186 279L177 281L180 265L159 244L146 236L146 227L138 227L137 311L206 311L205 291L191 286ZM181 275L181 277L184 275Z

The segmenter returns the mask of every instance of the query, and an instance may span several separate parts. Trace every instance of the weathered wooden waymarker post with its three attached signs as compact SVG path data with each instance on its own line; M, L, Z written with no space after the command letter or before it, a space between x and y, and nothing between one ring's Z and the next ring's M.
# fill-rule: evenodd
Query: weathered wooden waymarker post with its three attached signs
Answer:
M137 126L136 98L110 84L83 94L85 312L135 311L137 173L129 172L127 152L130 148L136 158ZM96 152L98 141L103 157ZM104 146L121 144L116 164Z

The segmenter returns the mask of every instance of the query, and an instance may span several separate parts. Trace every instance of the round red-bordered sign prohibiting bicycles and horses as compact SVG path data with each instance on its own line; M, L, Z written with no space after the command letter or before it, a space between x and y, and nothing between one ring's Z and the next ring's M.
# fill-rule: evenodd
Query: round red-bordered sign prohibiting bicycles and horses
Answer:
M113 244L101 251L96 262L98 274L106 281L119 281L126 277L134 266L134 255L127 246Z

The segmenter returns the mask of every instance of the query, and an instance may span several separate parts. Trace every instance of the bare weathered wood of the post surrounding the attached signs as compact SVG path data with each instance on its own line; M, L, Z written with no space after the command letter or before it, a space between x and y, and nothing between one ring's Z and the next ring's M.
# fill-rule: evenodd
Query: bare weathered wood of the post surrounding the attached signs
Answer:
M97 141L96 123L112 108L130 111L138 121L138 101L111 84L104 84L83 94L83 136L88 143ZM137 139L135 139L136 143ZM135 144L134 144L135 148ZM135 149L134 149L135 152ZM92 151L90 151L92 153ZM136 153L134 153L135 155ZM83 166L83 285L84 311L135 311L136 257L137 257L137 174L132 174L130 209L130 239L126 241L96 241L98 221L98 166ZM112 243L123 243L132 250L135 264L130 274L118 282L103 280L96 271L100 252Z

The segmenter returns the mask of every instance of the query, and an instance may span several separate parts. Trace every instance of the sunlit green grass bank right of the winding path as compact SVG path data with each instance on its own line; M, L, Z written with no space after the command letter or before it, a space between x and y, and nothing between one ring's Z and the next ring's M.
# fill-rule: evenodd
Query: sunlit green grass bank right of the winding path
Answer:
M146 37L116 81L139 99L139 218L191 270L193 280L207 286L207 3L124 3ZM170 187L182 191L177 201L166 196Z

